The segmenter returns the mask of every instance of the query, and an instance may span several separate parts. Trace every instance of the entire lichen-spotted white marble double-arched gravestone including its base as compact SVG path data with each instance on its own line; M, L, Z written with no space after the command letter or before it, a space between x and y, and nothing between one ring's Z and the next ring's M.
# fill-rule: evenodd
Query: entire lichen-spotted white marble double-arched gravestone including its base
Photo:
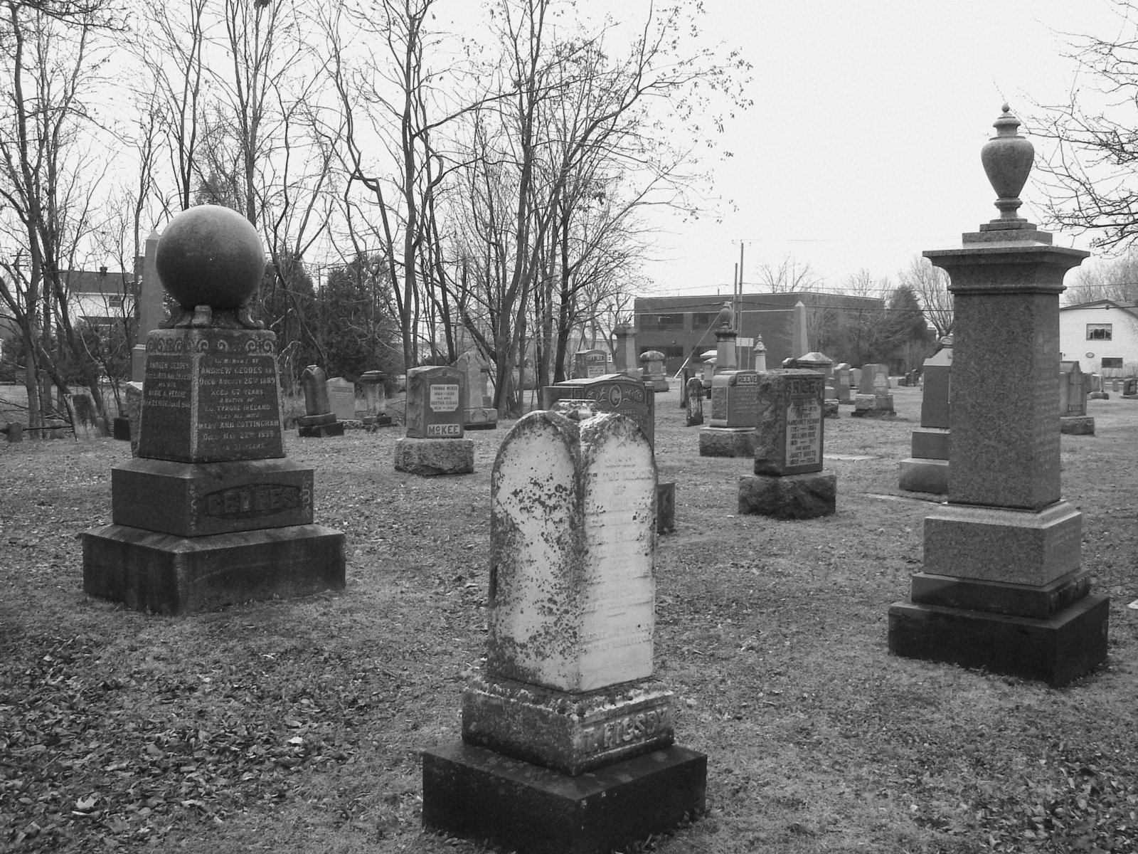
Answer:
M592 409L592 407L591 407ZM608 852L703 807L652 679L655 463L616 413L523 416L490 477L488 637L462 744L423 753L427 828L508 849Z

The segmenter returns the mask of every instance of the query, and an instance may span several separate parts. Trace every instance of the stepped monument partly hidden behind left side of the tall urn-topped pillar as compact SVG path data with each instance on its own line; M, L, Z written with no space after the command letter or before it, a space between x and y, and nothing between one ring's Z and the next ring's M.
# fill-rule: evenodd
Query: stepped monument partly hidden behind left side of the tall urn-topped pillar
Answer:
M913 430L912 455L900 462L899 485L910 492L948 492L953 344L950 338L945 340L945 346L924 361L921 427Z

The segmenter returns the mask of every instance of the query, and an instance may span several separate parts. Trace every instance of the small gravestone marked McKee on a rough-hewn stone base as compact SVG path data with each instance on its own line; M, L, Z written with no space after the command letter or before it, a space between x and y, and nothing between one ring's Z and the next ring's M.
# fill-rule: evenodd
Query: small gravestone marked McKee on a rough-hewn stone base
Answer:
M395 443L395 470L413 475L469 475L475 443L463 438L467 375L457 368L407 371L407 434Z

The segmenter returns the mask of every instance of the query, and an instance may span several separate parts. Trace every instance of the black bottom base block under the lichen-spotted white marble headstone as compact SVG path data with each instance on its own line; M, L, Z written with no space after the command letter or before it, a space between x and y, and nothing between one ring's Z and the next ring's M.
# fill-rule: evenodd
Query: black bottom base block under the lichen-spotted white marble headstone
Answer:
M463 744L422 759L423 827L519 854L608 854L706 804L707 756L676 746L579 777Z

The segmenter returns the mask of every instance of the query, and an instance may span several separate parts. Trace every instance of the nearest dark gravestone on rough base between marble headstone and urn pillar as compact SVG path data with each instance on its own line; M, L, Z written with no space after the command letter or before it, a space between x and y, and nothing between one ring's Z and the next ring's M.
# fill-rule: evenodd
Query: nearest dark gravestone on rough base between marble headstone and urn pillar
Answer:
M825 377L778 369L758 375L754 475L739 479L739 512L777 519L833 515L838 476L823 473Z

